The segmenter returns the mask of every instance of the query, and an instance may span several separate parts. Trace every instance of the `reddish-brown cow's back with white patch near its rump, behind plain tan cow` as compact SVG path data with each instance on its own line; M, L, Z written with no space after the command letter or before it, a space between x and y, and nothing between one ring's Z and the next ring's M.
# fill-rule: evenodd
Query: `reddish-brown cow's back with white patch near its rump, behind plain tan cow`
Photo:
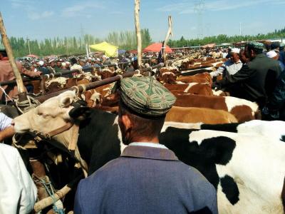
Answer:
M175 106L199 107L224 110L232 113L237 120L254 120L258 115L258 105L251 101L232 96L202 96L192 94L176 94Z

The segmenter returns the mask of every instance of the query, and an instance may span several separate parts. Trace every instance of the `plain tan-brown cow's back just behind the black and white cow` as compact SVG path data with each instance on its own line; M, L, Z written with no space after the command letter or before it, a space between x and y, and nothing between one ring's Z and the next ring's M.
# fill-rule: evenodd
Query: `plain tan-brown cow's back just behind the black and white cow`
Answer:
M179 123L237 123L232 113L211 108L177 107L173 106L167 113L165 121Z

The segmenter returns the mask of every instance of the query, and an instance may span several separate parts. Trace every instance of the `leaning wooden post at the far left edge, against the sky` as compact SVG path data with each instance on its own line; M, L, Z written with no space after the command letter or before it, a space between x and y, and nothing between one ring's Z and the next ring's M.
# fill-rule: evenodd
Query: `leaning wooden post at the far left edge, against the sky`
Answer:
M19 72L19 69L16 66L16 62L15 62L15 59L14 59L14 56L13 56L13 51L11 49L11 46L10 46L10 43L9 43L9 39L7 37L7 34L6 34L6 30L5 30L5 27L4 27L4 23L3 23L1 12L0 12L0 32L1 32L1 37L2 37L3 44L5 46L5 49L7 51L7 55L9 57L9 62L11 64L11 67L12 67L12 69L14 71L14 75L16 77L16 83L17 83L18 91L19 91L19 101L24 101L24 100L26 100L26 88L24 86L24 83L23 83L23 80L22 80L22 77L21 77L21 73Z

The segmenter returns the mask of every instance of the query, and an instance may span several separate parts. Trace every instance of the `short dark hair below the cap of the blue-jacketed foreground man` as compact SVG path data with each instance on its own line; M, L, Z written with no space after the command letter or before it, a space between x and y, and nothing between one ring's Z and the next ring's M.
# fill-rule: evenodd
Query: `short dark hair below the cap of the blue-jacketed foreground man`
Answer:
M130 121L133 123L133 132L137 136L154 138L160 134L165 123L165 115L159 117L142 116L128 108L122 100L120 100L119 106L119 116L129 116Z

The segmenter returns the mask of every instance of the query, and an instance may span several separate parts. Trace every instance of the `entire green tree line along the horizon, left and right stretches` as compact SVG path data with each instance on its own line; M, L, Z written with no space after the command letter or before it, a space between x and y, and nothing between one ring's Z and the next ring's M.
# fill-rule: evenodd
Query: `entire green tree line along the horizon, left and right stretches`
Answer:
M152 39L148 29L142 29L141 35L142 49L144 49L146 46L152 43ZM183 46L202 46L210 43L223 44L239 41L279 38L285 38L285 28L275 30L269 34L257 34L255 36L227 36L221 34L218 36L206 36L203 39L185 39L184 36L182 36L178 40L170 39L167 44L172 48L178 48ZM10 38L10 44L14 51L15 57L27 56L29 54L28 46L31 54L36 54L38 56L83 54L86 53L86 44L98 44L102 41L107 41L110 44L118 46L119 49L137 49L135 31L113 31L110 32L105 39L98 39L90 34L86 34L81 37L56 37L53 39L43 39L41 41L38 41L37 39L28 40L24 39L23 37L16 38L14 36ZM0 46L3 46L2 41L0 41Z

